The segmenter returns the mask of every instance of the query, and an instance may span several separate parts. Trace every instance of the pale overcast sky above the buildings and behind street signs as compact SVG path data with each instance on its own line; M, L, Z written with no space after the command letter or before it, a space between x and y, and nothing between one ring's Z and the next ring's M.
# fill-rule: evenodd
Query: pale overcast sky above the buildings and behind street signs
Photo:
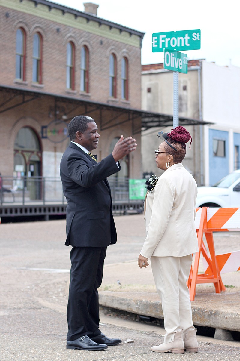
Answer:
M217 65L240 67L239 4L237 0L58 0L84 11L83 3L99 5L98 17L145 32L142 64L163 62L163 53L152 52L155 32L201 30L201 49L184 52L188 60L206 59Z

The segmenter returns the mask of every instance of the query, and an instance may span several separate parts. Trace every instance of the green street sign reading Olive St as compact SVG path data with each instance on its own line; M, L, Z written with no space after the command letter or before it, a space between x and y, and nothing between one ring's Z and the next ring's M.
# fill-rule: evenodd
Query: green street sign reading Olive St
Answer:
M164 49L164 69L187 74L187 55L180 51Z

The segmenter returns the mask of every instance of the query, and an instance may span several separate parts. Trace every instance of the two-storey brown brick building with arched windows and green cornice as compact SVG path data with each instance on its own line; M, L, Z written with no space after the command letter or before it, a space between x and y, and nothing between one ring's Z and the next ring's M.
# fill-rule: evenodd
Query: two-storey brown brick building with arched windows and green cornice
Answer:
M98 18L97 8L0 0L2 175L59 177L67 125L85 114L99 127L100 160L121 134L136 138L121 177L141 178L144 33Z

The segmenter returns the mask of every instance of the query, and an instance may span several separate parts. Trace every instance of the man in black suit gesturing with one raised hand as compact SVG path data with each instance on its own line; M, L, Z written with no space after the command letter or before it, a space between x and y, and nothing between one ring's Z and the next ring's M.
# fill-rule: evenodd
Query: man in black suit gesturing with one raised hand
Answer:
M90 151L100 135L94 119L74 117L68 125L71 140L60 163L67 199L67 240L72 245L71 279L67 308L67 348L102 350L117 345L99 330L98 287L103 278L107 246L117 242L112 198L107 177L117 173L119 160L136 149L132 137L118 140L113 152L96 161Z

